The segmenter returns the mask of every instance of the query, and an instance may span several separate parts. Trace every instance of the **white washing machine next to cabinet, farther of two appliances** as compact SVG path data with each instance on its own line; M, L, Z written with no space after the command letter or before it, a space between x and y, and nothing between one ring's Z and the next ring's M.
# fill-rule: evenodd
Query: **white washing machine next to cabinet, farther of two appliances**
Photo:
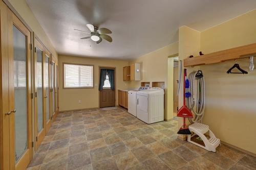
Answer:
M136 114L136 100L137 100L137 92L141 90L146 90L148 87L140 87L138 90L128 91L128 112L137 117Z

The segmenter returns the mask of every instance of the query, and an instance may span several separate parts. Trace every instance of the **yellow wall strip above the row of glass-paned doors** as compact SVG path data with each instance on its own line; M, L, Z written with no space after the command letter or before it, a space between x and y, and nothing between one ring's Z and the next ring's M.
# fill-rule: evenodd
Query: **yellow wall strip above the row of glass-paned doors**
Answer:
M25 20L25 22L32 29L32 31L34 31L36 36L39 37L40 41L44 43L44 45L48 48L48 50L53 55L53 57L58 59L58 54L54 46L52 45L47 34L45 33L45 31L42 29L39 22L35 18L27 2L25 0L8 0L8 1L13 6L13 8L18 12L18 14Z

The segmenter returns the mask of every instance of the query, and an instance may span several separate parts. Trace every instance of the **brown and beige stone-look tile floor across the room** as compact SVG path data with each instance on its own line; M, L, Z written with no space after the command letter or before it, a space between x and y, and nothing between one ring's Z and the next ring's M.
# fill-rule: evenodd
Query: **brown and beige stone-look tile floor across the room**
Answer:
M27 169L256 169L256 158L177 139L177 120L147 125L122 108L59 113Z

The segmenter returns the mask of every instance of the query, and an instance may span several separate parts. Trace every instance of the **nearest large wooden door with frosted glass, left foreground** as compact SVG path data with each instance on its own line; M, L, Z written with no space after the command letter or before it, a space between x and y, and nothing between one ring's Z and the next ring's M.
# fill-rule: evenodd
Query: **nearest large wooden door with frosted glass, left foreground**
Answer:
M32 158L31 32L9 9L8 42L10 169L25 169Z

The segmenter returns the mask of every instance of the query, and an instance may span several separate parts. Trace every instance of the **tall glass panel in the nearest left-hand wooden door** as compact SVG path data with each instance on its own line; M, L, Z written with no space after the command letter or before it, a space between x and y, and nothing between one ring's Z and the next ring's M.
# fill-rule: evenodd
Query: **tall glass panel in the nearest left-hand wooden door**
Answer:
M15 112L15 162L28 149L27 37L13 26L13 82Z

